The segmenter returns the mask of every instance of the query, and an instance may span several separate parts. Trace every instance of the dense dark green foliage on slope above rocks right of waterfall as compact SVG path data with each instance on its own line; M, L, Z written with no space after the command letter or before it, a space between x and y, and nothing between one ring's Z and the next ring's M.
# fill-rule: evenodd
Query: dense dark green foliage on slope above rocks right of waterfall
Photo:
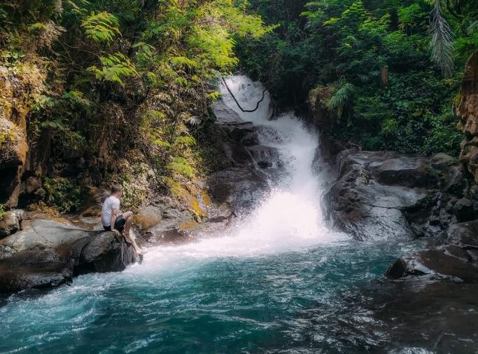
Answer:
M478 48L478 1L251 0L265 40L241 42L246 71L276 102L304 109L319 88L332 137L364 149L458 154L450 107ZM431 43L431 46L430 46Z

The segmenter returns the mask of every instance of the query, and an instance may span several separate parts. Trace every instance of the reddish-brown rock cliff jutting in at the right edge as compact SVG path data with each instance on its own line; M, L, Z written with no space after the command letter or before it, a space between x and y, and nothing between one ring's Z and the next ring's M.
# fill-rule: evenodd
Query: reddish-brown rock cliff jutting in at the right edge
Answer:
M460 161L478 182L478 51L466 64L456 114L458 129L465 133Z

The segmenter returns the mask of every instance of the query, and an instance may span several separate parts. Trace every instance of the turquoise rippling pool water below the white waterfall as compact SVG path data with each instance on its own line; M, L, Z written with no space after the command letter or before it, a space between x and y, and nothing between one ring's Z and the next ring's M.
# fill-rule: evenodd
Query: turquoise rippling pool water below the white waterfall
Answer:
M339 349L376 346L377 334L344 327L374 321L348 297L375 282L404 247L337 241L83 275L71 286L11 296L0 308L0 352L347 353Z

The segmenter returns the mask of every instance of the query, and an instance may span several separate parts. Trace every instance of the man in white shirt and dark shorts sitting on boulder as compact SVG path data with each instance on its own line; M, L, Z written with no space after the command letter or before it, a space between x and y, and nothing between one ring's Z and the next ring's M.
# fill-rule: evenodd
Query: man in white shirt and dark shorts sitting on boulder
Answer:
M121 187L113 184L111 186L111 196L106 198L101 207L101 224L106 231L113 231L117 235L122 233L127 243L130 243L136 253L142 254L141 248L136 245L134 238L129 236L129 230L133 224L133 212L120 212L120 198L122 196Z

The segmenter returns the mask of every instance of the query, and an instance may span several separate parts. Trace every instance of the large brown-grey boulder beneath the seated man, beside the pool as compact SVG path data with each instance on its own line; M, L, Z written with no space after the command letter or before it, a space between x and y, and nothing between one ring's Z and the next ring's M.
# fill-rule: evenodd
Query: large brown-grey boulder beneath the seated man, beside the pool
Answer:
M0 292L55 287L74 275L122 271L141 261L113 232L88 231L50 219L24 222L0 240Z

